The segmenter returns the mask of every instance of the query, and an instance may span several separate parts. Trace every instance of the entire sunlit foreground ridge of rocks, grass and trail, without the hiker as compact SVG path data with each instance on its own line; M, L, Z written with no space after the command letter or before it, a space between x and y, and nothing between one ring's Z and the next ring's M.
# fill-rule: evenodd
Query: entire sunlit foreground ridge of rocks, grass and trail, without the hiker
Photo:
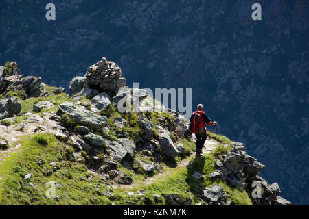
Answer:
M190 121L105 57L70 96L16 62L0 69L1 205L292 204L244 144L208 132L196 155Z

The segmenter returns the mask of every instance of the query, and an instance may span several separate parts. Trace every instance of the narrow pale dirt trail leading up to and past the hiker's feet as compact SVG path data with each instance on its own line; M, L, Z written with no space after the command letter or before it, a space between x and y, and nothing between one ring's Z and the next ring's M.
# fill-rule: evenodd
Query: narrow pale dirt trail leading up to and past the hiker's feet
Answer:
M211 138L207 138L207 140L205 141L204 147L203 147L203 155L207 154L207 153L211 153L211 151L214 151L214 149L216 149L216 147L218 146L218 142L214 139ZM111 185L113 188L119 188L119 189L125 189L130 191L130 189L141 186L141 185L150 185L152 183L155 183L157 181L162 181L163 179L167 179L168 177L171 177L172 175L174 175L174 173L182 168L185 168L185 166L187 166L188 164L190 164L190 162L192 161L192 159L194 159L194 157L196 156L196 153L192 153L190 156L186 157L185 159L181 160L181 162L179 164L177 164L176 167L167 167L164 169L164 172L161 172L153 177L148 177L146 179L143 180L137 180L134 181L133 184L130 185L119 185L119 184L115 184L115 185Z

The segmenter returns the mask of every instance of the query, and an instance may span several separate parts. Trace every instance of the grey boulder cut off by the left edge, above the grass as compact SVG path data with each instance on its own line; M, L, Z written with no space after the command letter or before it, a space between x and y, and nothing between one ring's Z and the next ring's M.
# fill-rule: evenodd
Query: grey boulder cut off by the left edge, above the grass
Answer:
M19 98L10 97L0 101L0 120L9 118L21 112L21 101Z

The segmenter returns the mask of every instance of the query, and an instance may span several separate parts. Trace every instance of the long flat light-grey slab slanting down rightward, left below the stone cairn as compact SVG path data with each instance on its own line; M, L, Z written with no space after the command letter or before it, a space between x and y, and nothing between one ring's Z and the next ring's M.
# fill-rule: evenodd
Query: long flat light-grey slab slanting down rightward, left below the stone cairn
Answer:
M91 129L101 129L102 127L108 126L106 116L99 116L70 102L59 105L59 110L68 114L70 118L73 118L75 123L87 126Z

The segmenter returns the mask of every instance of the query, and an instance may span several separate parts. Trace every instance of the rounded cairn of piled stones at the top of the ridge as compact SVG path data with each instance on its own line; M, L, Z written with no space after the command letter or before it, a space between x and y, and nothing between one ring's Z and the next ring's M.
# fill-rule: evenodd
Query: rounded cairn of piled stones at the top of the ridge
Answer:
M122 87L126 81L122 76L122 70L115 62L108 62L105 57L87 70L84 75L90 86L97 86L102 90L115 90Z

